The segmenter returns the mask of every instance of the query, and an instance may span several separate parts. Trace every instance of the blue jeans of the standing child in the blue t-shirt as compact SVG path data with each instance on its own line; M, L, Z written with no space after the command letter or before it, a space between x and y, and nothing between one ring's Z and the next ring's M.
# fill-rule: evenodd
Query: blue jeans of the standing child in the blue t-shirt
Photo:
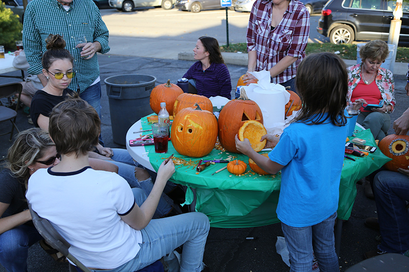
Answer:
M311 271L312 252L320 271L339 271L335 254L334 222L336 212L324 221L309 227L295 228L281 223L290 255L290 271Z

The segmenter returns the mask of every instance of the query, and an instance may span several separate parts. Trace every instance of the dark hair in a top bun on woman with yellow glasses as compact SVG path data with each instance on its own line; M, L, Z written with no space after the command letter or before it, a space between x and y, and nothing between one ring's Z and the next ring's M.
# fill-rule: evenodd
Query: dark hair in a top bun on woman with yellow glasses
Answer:
M65 41L60 35L50 34L46 39L47 51L42 55L42 68L48 70L56 60L70 60L74 62L73 56L65 49Z

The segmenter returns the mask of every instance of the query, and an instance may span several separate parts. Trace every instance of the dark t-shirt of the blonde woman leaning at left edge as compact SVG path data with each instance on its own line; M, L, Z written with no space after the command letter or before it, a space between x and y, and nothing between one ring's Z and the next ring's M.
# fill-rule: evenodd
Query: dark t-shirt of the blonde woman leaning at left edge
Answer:
M0 172L0 202L10 204L1 217L7 217L28 209L24 181L11 176L9 169Z

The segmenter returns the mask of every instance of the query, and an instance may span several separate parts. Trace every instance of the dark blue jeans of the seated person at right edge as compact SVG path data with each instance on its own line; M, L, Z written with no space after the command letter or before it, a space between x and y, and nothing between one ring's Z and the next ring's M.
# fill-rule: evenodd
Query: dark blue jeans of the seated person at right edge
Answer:
M382 241L379 249L388 253L409 250L409 178L392 171L381 171L374 179L374 196Z

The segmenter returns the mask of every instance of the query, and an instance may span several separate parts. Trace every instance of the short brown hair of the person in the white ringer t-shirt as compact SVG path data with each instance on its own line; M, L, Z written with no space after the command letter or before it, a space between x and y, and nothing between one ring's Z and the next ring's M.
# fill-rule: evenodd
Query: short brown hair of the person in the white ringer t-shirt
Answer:
M81 98L67 98L50 114L49 133L59 154L86 155L98 144L101 120Z

